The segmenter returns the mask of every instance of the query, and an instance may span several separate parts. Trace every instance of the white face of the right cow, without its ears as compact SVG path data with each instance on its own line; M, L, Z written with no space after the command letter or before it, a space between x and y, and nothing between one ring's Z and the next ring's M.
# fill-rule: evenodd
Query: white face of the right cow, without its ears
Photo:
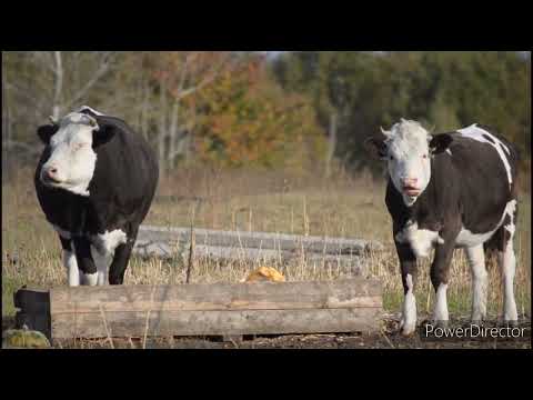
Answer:
M389 174L396 190L402 193L406 207L412 207L418 197L428 188L431 179L431 161L429 142L431 136L415 121L402 119L392 127L391 131L383 131L388 136ZM410 196L404 190L405 180L415 180L419 194Z

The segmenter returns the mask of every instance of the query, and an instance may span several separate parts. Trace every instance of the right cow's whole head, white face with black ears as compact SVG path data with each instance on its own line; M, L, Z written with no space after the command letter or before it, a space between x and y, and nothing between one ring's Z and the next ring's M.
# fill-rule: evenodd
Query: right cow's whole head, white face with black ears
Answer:
M411 207L424 192L431 180L431 157L444 151L451 143L446 133L432 137L419 122L395 123L390 131L382 129L383 138L371 142L381 159L386 160L391 180ZM436 139L436 140L435 140Z

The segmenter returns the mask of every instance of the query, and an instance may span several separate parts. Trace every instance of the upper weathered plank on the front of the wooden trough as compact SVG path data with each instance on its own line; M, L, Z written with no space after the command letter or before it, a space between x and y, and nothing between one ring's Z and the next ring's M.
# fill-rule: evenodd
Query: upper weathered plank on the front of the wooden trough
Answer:
M104 286L51 290L51 313L281 310L382 307L381 282L255 282L177 286Z

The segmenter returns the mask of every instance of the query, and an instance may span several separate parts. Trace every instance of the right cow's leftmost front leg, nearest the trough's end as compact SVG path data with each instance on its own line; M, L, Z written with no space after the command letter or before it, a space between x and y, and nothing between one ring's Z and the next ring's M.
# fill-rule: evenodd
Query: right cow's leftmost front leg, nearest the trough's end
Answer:
M414 333L416 329L416 299L414 297L414 286L416 283L416 257L409 244L396 244L398 258L400 259L400 269L403 283L403 309L400 320L400 332L403 336Z

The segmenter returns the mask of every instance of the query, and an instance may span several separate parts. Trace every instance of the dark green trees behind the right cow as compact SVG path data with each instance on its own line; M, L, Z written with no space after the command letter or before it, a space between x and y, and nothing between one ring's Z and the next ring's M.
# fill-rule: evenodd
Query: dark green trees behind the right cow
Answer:
M375 167L362 142L400 118L434 132L491 126L529 166L531 53L291 52L273 70L286 91L309 96L320 126L330 127L331 152L348 168Z

